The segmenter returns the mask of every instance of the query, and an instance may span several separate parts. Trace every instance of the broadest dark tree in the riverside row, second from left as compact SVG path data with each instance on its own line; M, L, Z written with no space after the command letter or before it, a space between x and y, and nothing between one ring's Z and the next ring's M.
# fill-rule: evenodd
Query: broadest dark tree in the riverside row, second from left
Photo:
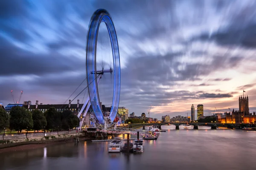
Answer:
M21 133L23 129L32 129L32 113L23 107L15 106L10 111L10 129Z

